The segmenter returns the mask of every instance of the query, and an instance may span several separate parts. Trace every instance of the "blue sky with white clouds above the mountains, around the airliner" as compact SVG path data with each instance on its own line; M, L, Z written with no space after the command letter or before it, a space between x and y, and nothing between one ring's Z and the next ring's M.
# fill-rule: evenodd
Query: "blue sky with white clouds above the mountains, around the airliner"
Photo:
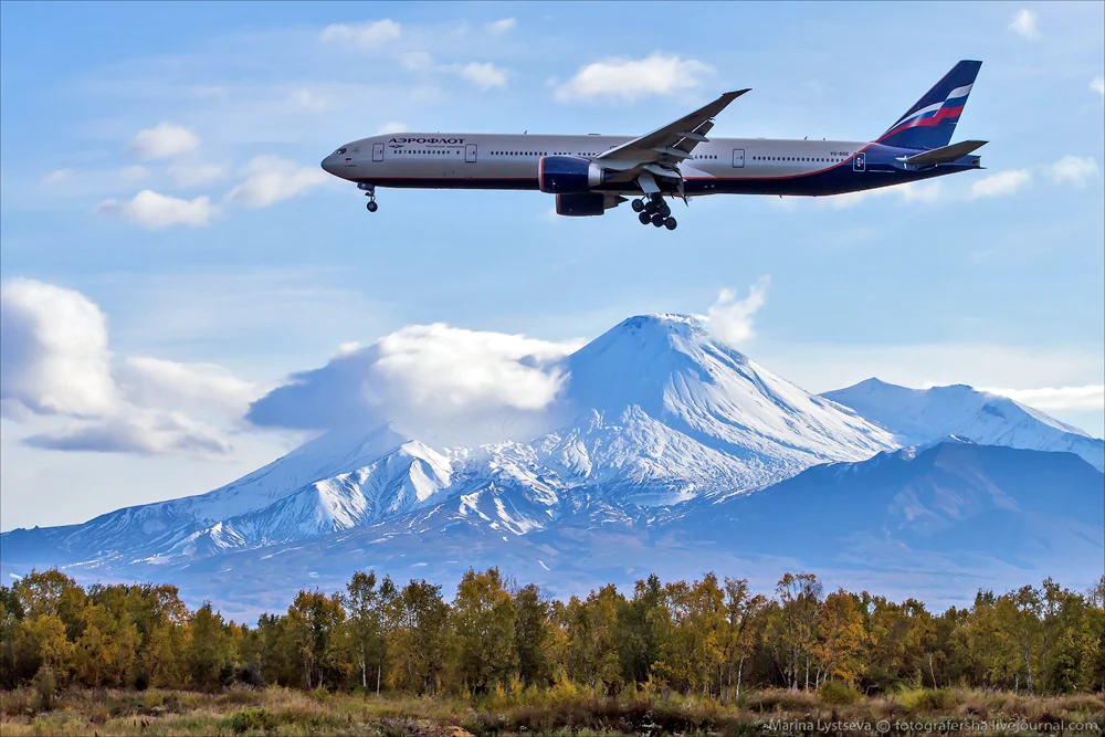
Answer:
M532 409L642 313L810 391L969 383L1105 432L1105 6L673 8L0 7L0 529L272 461L326 419L251 403L307 371L413 430ZM706 198L673 232L538 192L370 215L318 167L383 131L640 135L741 87L714 136L869 140L960 59L985 171Z

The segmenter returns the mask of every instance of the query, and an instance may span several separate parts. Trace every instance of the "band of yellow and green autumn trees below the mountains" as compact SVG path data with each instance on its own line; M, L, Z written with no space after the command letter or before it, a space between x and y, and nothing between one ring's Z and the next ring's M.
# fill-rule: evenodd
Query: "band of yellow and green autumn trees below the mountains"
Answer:
M0 686L215 691L241 684L478 697L581 687L733 703L749 688L902 687L1033 694L1105 689L1105 577L979 591L969 608L825 591L787 573L638 581L567 601L497 569L469 570L452 600L425 580L361 571L344 591L303 590L282 614L225 621L172 586L94 585L57 570L0 587Z

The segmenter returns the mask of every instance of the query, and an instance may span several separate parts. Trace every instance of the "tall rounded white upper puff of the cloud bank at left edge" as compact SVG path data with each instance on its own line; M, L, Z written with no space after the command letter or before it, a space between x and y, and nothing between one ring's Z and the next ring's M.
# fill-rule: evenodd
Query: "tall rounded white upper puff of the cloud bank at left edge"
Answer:
M118 401L107 322L80 292L25 278L0 286L0 401L6 414L95 417Z

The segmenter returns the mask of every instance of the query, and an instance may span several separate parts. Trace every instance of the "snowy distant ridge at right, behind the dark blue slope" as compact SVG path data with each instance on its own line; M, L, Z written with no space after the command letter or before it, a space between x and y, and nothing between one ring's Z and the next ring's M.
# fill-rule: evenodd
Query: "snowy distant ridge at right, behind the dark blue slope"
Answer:
M1105 470L1105 441L1008 397L965 385L908 389L867 379L822 397L886 428L903 445L958 435L982 445L1075 453Z

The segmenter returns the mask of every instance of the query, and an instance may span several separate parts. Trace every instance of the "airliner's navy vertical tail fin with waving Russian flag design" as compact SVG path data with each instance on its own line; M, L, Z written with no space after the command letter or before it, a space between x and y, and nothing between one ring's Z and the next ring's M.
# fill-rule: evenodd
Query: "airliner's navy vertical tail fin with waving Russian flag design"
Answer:
M982 62L962 61L936 83L880 138L880 144L932 149L947 146Z

